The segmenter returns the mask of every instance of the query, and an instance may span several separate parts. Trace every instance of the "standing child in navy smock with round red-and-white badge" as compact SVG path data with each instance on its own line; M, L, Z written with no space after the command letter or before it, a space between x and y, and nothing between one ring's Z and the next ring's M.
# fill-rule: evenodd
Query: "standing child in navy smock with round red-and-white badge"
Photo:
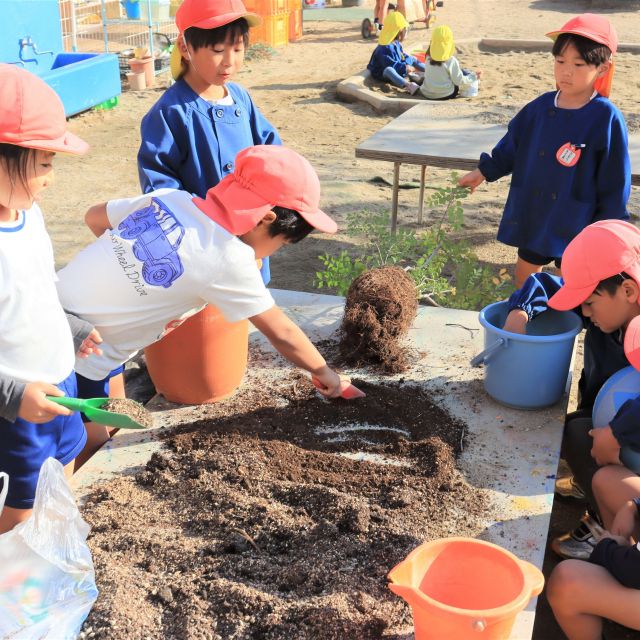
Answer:
M554 40L557 91L526 105L478 168L460 178L475 189L512 174L498 240L518 248L516 286L560 256L597 220L628 219L627 127L607 99L618 38L600 16L572 18Z

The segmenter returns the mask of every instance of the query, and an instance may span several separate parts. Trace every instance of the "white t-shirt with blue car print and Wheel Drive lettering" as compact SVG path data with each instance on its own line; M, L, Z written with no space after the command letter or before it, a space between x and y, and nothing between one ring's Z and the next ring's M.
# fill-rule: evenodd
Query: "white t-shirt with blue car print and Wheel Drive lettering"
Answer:
M230 322L274 305L253 249L198 209L192 196L159 189L111 200L113 227L58 273L65 309L102 335L103 355L76 360L100 380L205 304Z

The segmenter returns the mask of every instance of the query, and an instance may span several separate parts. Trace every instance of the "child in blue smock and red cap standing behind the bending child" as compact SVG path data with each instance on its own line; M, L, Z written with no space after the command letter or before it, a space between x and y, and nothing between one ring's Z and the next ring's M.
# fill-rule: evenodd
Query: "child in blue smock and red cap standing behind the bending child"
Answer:
M138 173L144 193L180 189L203 198L233 173L239 151L281 144L247 91L230 80L240 70L249 27L260 18L242 0L184 0L171 58L175 84L142 119ZM269 261L262 277L269 282Z

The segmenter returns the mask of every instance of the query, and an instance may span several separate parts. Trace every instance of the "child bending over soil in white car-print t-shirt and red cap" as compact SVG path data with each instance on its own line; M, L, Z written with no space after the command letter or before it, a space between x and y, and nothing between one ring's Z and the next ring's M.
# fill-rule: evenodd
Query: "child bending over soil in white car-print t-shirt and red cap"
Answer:
M318 177L302 156L278 145L249 147L234 167L206 198L160 189L87 212L98 239L58 273L65 308L95 322L103 338L101 356L76 363L86 379L104 386L139 349L213 304L229 322L251 320L319 380L324 395L338 395L340 377L275 306L256 265L314 228L336 231L318 208ZM102 427L94 436L95 447L109 433Z

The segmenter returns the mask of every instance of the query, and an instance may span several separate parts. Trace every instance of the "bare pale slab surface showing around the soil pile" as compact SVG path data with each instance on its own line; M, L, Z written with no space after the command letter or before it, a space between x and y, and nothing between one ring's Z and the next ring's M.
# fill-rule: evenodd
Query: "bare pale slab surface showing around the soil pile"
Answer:
M330 336L342 317L342 298L281 290L273 294L312 340ZM470 358L483 348L475 312L423 307L410 340L423 357L402 377L432 390L452 415L468 425L469 446L461 456L462 469L469 482L486 489L490 499L480 537L541 568L566 398L540 411L517 411L489 398L483 390L482 370L469 366ZM257 332L251 341L269 348ZM271 369L265 375L273 375L273 367L280 365L258 364L252 377L260 375L262 366ZM120 432L107 443L74 477L76 495L82 498L96 482L139 469L160 447L160 430L197 420L206 411L204 407L178 408L160 399L150 406L155 409L156 427ZM534 612L535 602L531 602L518 616L512 639L531 637Z

